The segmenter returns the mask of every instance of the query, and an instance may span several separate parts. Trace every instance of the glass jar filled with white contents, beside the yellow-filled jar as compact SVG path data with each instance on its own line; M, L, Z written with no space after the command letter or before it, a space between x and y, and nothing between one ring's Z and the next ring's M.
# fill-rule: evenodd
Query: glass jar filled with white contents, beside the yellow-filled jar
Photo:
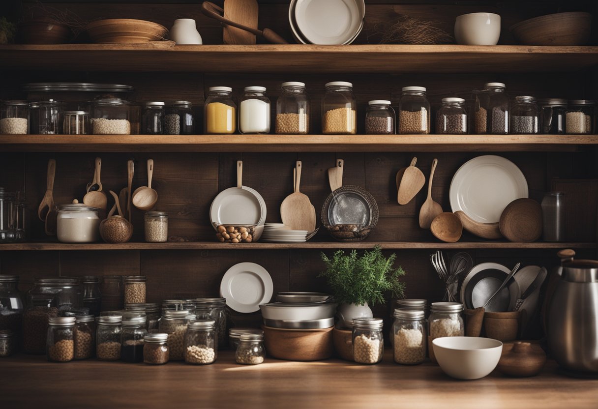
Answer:
M270 133L270 99L266 87L245 87L239 103L240 133Z

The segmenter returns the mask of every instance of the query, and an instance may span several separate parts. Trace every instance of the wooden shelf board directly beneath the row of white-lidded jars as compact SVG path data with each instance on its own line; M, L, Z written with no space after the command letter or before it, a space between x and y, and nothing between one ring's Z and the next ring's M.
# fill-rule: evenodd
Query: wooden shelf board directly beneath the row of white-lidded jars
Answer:
M576 151L598 135L0 135L0 151Z

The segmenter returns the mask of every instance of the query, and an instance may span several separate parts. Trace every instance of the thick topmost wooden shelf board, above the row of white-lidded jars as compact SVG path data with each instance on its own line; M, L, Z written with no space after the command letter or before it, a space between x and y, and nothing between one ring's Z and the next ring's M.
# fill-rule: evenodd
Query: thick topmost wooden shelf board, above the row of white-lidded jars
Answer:
M1 45L4 69L438 73L577 71L598 47L529 45Z

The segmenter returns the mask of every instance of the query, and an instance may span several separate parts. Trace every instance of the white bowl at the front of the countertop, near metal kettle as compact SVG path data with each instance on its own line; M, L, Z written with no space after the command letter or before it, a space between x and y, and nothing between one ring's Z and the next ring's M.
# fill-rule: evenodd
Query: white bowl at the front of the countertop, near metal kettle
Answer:
M432 341L440 368L456 379L489 375L501 359L502 342L492 338L442 337Z

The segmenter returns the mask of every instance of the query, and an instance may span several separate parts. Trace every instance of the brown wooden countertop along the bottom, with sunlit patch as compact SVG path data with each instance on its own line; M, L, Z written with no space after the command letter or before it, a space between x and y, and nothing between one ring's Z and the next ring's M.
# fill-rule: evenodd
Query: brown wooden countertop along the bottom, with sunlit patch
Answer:
M331 359L267 359L234 364L224 351L215 364L170 362L50 363L45 356L0 359L3 408L593 408L598 380L572 379L549 361L542 374L512 379L497 371L453 380L433 364L396 365L390 351L377 365Z

